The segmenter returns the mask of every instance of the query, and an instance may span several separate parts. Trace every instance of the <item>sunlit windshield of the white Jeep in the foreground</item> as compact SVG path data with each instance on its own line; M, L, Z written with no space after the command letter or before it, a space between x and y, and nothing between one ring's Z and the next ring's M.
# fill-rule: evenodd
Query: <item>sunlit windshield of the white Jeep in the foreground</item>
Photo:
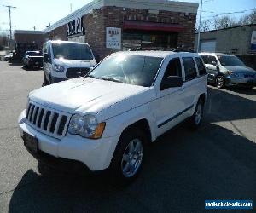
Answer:
M89 77L149 87L162 60L140 55L113 55L96 66Z

